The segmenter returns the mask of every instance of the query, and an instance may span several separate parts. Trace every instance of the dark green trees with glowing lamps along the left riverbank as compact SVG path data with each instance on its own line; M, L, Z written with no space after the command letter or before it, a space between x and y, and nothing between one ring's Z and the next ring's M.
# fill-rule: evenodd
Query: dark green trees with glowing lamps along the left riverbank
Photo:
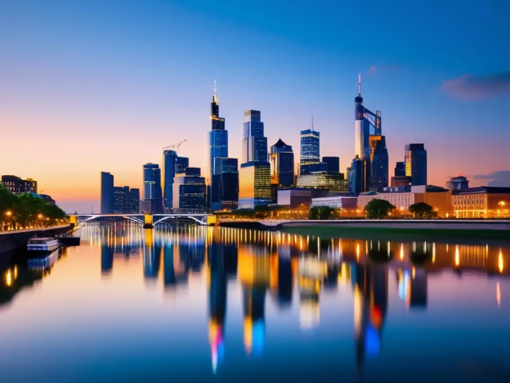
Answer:
M52 226L66 213L31 193L13 194L0 184L0 228L2 230Z

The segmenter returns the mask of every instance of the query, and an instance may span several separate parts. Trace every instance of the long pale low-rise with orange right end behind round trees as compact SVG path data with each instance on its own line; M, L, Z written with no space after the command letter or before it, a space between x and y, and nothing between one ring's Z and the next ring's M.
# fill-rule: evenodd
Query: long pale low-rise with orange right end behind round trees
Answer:
M451 214L452 191L439 186L391 186L385 187L381 192L362 193L358 197L358 208L364 209L373 199L386 200L399 211L409 210L409 206L424 202L437 212L439 217Z

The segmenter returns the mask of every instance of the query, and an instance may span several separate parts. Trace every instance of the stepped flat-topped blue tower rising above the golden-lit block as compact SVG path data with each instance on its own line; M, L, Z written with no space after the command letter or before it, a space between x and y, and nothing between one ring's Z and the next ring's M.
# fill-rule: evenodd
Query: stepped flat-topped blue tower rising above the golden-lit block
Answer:
M260 121L260 110L244 112L241 162L252 161L267 161L267 138L264 137L264 123Z

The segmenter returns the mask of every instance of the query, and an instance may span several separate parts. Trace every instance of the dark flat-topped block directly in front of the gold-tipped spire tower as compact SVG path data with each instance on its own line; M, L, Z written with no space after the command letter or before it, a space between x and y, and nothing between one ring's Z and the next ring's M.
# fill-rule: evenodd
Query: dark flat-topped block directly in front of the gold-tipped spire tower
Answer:
M237 209L239 200L239 170L237 158L215 158L212 190L217 201L213 211Z

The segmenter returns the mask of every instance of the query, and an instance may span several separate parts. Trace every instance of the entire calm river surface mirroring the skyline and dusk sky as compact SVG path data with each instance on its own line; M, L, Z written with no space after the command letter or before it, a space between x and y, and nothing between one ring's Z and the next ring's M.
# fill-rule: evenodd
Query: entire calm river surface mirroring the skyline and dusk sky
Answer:
M91 224L0 283L0 381L509 381L510 246Z

